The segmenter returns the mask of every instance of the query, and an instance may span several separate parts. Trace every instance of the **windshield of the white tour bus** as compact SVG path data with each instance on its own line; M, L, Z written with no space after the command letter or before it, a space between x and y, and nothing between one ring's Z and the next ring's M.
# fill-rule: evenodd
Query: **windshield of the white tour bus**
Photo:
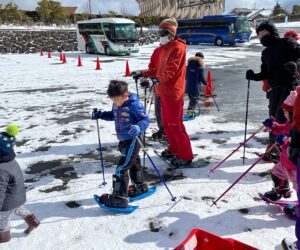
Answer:
M131 40L138 39L137 30L133 23L116 23L114 24L114 38L116 40Z

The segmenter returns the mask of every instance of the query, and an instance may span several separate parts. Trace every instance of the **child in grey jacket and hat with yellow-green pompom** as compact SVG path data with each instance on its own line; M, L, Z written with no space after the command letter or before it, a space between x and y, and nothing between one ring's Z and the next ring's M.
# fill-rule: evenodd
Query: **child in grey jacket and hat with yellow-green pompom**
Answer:
M15 136L19 129L10 124L6 132L0 133L0 243L10 236L10 216L21 216L28 224L24 233L29 234L40 222L33 213L22 205L26 202L26 192L21 168L15 160Z

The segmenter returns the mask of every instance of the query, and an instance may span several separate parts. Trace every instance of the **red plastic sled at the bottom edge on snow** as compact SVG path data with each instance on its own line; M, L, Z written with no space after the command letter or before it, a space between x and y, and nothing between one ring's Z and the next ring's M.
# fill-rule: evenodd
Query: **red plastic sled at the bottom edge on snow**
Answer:
M222 238L199 228L193 229L175 250L258 250L231 238Z

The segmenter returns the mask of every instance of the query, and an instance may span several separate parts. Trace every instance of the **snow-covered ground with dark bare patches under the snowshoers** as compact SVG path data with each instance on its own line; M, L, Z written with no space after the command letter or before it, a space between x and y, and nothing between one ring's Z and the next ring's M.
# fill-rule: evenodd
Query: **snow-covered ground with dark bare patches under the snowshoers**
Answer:
M204 49L206 63L213 70L248 56L259 58L259 52L248 45L236 51L190 46L187 55ZM80 53L83 67L76 66L78 53L67 53L66 64L57 53L51 59L38 54L0 55L0 127L3 130L8 123L20 126L16 152L28 186L26 206L41 220L40 227L26 237L24 221L13 217L13 238L1 249L172 249L191 229L201 228L270 250L279 249L281 239L294 234L293 221L277 207L256 199L258 192L271 188L265 172L272 164L257 164L217 206L210 206L257 159L254 153L264 151L262 142L267 135L261 133L249 143L246 165L238 152L210 174L243 141L244 124L225 120L214 107L204 105L203 115L185 125L194 153L207 158L208 167L167 171L167 165L153 153L153 148L162 149L162 145L154 143L148 150L169 180L176 203L158 184L156 194L136 202L140 208L133 214L117 215L98 208L93 195L111 192L111 163L117 161L118 152L113 123L100 120L108 185L99 187L102 174L91 111L94 107L110 110L106 95L110 79L128 81L134 92L133 80L123 77L126 60L131 70L144 69L156 46L143 46L137 56L100 56L100 71L95 70L96 56L84 53ZM153 110L150 116L154 117ZM154 119L151 121L149 134L155 128ZM249 134L260 126L249 124ZM148 179L157 182L151 165L146 164ZM153 226L158 232L150 231Z

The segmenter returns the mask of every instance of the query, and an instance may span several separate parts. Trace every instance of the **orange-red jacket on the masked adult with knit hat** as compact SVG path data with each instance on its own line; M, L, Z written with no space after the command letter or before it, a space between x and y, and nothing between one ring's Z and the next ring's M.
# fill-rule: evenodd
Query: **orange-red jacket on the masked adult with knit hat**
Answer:
M161 46L156 78L156 94L172 100L181 100L185 91L186 44L178 37Z

